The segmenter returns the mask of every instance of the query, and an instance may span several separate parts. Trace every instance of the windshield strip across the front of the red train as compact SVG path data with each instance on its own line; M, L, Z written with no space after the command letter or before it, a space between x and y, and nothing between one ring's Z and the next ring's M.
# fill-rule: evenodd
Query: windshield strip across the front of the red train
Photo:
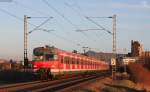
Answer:
M54 61L58 60L58 56L55 54L45 54L42 56L34 56L34 61Z

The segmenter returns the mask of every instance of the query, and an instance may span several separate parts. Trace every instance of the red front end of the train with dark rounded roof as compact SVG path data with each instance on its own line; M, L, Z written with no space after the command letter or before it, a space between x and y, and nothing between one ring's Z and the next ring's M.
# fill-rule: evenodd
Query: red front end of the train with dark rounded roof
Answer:
M58 72L58 55L54 47L38 47L33 50L32 69L35 74L48 77Z

